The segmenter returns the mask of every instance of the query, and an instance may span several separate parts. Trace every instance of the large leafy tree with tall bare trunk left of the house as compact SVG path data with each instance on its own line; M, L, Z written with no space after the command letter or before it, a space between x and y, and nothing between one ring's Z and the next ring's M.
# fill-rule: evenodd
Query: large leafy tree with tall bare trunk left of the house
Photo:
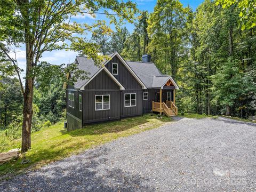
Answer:
M99 63L98 46L84 38L97 28L109 30L105 21L71 22L76 15L105 14L114 23L126 19L132 22L137 12L135 4L117 0L2 0L0 3L0 57L11 61L17 72L23 94L23 123L21 151L31 147L30 132L33 116L33 88L38 62L42 54L53 50L75 50ZM118 18L116 18L118 17ZM26 47L25 87L20 76L15 47ZM1 65L1 64L0 64ZM0 66L1 68L1 66Z

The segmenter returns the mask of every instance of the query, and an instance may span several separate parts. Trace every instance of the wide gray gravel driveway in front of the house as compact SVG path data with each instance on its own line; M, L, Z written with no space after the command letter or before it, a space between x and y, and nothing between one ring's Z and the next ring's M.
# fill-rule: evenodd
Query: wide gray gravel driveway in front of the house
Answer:
M0 191L256 191L256 124L188 119L0 183Z

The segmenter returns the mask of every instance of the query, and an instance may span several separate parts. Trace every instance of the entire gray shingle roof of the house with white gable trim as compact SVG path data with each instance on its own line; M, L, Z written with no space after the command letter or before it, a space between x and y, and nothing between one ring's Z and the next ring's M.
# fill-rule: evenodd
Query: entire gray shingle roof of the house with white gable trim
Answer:
M107 55L111 59L115 56L123 63L123 65L129 70L131 75L142 86L142 89L147 88L161 88L165 86L168 81L172 82L175 89L179 89L178 85L174 82L173 78L169 75L163 75L152 62L139 62L139 61L125 61L118 52L114 52ZM110 59L110 60L111 60ZM103 60L102 65L105 66L110 60ZM78 69L87 71L87 79L78 80L74 84L75 89L83 90L84 87L95 77L101 70L107 70L108 75L117 83L120 89L124 89L123 85L113 76L106 67L98 67L94 65L94 61L87 57L77 56L75 63L78 64Z

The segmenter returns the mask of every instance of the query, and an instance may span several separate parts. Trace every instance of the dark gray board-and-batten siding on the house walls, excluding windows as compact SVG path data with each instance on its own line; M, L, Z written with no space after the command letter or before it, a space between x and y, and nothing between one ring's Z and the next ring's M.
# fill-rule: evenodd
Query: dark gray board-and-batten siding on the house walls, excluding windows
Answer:
M85 86L85 90L79 91L82 94L82 112L79 111L78 90L72 89L68 86L67 90L67 121L68 126L73 127L97 123L102 121L115 120L123 117L138 116L142 113L148 113L152 109L152 101L156 101L156 89L142 90L142 86L132 76L130 71L124 64L114 57L106 64L106 68L112 73L113 63L118 63L118 74L115 78L125 87L125 90L119 90L119 86L111 79L111 77L102 70L95 76L89 84ZM76 92L75 109L70 109L68 106L68 92ZM148 100L143 100L143 92L148 92ZM124 95L125 93L136 93L136 106L125 107ZM109 94L110 95L110 109L95 110L95 95ZM163 101L167 99L167 91L163 90ZM73 124L70 126L70 122Z

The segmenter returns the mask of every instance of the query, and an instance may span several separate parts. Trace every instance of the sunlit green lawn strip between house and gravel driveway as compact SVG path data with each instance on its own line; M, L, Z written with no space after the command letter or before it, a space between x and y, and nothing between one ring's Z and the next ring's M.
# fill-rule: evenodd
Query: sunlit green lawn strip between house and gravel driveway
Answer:
M23 170L27 170L25 168L36 169L93 146L150 130L171 121L171 118L163 117L158 119L156 117L155 114L153 116L148 114L116 122L87 125L83 129L71 132L63 129L63 122L55 124L49 128L32 133L31 149L17 161L0 165L0 175L5 175L3 178L7 179L9 177L7 175L20 173ZM20 147L21 139L7 141L3 132L0 133L0 136L0 152ZM25 157L28 163L22 164L22 159Z

